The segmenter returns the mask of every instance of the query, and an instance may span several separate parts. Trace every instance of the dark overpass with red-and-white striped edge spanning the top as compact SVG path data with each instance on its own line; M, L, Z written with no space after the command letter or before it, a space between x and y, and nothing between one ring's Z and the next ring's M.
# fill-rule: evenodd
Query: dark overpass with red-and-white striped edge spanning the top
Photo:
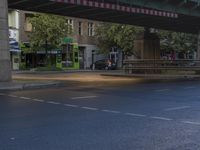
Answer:
M187 33L200 26L197 0L8 0L8 7Z

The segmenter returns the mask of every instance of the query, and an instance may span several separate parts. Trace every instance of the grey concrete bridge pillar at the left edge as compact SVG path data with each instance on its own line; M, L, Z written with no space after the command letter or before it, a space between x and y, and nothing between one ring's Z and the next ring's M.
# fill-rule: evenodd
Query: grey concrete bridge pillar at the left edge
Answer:
M0 82L11 81L8 37L8 2L0 0Z

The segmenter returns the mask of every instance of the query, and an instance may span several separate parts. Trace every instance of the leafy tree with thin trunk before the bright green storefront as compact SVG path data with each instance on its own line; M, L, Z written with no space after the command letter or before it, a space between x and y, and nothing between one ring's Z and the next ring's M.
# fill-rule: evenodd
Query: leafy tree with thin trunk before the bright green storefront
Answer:
M48 51L60 48L71 28L65 17L57 15L35 14L29 18L29 22L32 25L29 34L31 51L45 50L47 64Z

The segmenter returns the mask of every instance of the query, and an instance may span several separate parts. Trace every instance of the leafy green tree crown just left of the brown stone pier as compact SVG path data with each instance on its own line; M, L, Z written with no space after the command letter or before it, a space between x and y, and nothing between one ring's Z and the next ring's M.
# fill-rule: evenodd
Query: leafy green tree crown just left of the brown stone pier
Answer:
M122 49L124 53L132 53L134 39L143 28L132 25L103 23L96 29L97 45L103 53L108 53L112 47Z

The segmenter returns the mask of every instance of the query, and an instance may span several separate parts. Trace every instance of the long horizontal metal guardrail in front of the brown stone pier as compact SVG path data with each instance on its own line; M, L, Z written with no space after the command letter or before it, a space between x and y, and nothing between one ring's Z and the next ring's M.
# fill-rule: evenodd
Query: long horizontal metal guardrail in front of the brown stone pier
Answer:
M124 60L125 73L163 73L168 71L193 71L200 73L200 60Z

